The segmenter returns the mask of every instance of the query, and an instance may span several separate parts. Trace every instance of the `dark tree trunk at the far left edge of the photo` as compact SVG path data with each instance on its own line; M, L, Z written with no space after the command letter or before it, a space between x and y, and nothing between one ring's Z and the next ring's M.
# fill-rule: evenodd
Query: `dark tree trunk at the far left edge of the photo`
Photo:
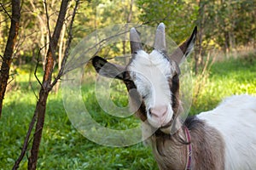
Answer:
M3 98L9 79L9 69L15 50L15 43L20 25L20 0L12 0L12 17L9 28L9 37L3 54L3 62L0 70L0 116L3 108Z

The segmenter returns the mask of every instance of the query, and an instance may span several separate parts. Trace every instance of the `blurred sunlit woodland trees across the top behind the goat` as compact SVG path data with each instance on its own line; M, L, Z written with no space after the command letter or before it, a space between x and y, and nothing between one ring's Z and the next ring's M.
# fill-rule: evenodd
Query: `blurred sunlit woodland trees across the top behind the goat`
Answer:
M52 31L60 1L51 0L47 5L49 29ZM73 3L70 3L70 6L73 6ZM182 42L194 26L199 26L195 61L200 65L202 62L200 57L205 56L208 50L213 48L224 53L234 52L248 45L255 48L255 6L255 0L84 0L80 3L79 14L74 22L73 44L97 28L113 24L131 22L157 26L163 21L166 24L167 34L177 43ZM48 50L46 44L49 42L44 8L43 1L23 1L14 66L31 64L40 48L42 48L40 64L44 65ZM10 11L11 3L3 0L0 8L1 55L9 35ZM67 16L59 41L57 52L60 54L59 59L65 48L67 39L65 29L68 19Z

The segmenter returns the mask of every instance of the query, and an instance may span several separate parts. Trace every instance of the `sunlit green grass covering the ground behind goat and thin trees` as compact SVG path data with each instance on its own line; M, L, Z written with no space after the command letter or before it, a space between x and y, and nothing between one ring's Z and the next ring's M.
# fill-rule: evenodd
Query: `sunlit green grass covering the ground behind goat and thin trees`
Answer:
M11 169L20 155L26 130L32 118L36 97L28 85L28 73L18 71L16 88L10 90L4 99L3 115L0 120L0 169ZM37 87L37 82L33 82ZM120 85L119 88L123 86ZM36 88L37 89L37 88ZM38 94L36 90L36 94ZM117 105L126 105L122 93L114 93ZM226 59L212 65L209 77L198 94L190 114L207 111L218 105L226 96L233 94L256 95L256 54L239 59ZM83 94L92 116L106 127L132 127L136 118L119 122L111 120L100 111L93 99L93 93ZM29 153L29 152L28 152ZM26 169L27 158L20 164ZM148 146L142 143L128 147L102 146L85 139L69 122L62 105L61 94L50 94L40 145L38 169L157 169Z

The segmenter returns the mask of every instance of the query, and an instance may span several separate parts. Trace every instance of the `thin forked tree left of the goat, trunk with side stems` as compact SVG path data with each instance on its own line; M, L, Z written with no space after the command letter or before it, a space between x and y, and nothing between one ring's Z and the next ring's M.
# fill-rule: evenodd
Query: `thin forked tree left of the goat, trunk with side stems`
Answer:
M36 126L36 130L34 133L31 156L28 158L27 168L28 169L36 169L36 167L37 167L39 144L40 144L43 127L44 127L44 115L45 115L45 111L46 111L45 109L46 109L46 104L47 104L47 98L48 98L50 90L55 86L56 82L63 75L64 66L66 65L67 57L69 54L69 49L71 46L71 42L73 40L73 36L72 36L73 21L74 21L75 14L79 8L79 0L76 0L75 7L73 8L72 20L71 20L70 26L69 26L69 32L68 32L68 38L67 38L67 48L65 49L64 57L61 61L61 70L58 72L57 77L55 77L55 79L53 81L51 81L52 71L53 71L53 67L54 67L53 54L54 54L58 39L60 38L60 32L61 32L61 27L63 26L64 17L67 13L67 2L68 2L68 0L65 2L63 0L61 2L61 10L60 10L60 13L58 16L57 24L55 26L54 35L53 35L53 37L50 38L51 41L49 44L49 51L47 53L47 59L46 59L47 65L46 65L46 69L44 71L44 82L43 82L43 84L41 84L41 82L38 81L41 84L38 103L36 105L36 109L34 111L32 121L30 122L29 128L27 130L26 139L24 140L20 156L15 161L13 170L16 170L19 168L20 161L22 161L22 159L24 158L24 156L26 154L26 150L28 148L30 136L31 136L32 129L34 127L35 122L37 122L37 126ZM38 52L38 57L39 57L39 55L40 55L40 52ZM34 73L35 76L36 76L37 68L38 68L38 63L37 63L37 67L36 67L36 70Z

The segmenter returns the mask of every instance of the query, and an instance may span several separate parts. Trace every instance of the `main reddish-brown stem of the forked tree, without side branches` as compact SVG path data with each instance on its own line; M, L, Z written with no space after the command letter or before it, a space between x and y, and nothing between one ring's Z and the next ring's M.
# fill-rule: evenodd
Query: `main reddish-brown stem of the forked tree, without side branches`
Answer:
M32 142L31 156L28 159L28 167L27 168L29 170L36 169L36 167L37 167L39 145L41 142L43 127L44 127L44 116L45 116L45 110L46 110L46 102L48 99L48 94L49 94L50 90L52 89L51 78L52 78L52 73L53 73L53 69L54 69L54 65L55 65L54 54L55 54L58 40L60 38L61 29L63 26L63 22L65 20L65 15L67 13L67 4L68 4L68 0L62 0L60 13L59 13L58 20L57 20L57 23L55 26L55 31L49 41L49 50L48 50L48 53L46 56L44 80L41 85L39 99L38 99L38 103L37 103L36 110L35 110L35 113L37 115L37 124L36 124L33 142Z

